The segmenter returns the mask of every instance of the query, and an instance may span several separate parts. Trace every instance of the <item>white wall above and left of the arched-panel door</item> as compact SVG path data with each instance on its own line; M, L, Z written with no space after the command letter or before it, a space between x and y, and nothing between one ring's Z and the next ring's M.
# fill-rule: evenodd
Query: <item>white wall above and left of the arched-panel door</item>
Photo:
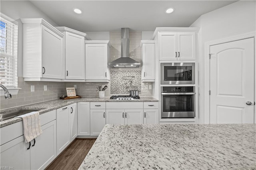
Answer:
M199 32L199 113L200 123L204 123L204 44L209 41L235 36L256 30L256 1L238 1L198 18L190 27L200 27Z

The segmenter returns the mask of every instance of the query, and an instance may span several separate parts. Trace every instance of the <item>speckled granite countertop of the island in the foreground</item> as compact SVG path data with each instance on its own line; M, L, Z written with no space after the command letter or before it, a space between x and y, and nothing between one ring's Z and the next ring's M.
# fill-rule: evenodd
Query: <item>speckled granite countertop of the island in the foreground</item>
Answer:
M255 169L256 125L106 125L80 170Z

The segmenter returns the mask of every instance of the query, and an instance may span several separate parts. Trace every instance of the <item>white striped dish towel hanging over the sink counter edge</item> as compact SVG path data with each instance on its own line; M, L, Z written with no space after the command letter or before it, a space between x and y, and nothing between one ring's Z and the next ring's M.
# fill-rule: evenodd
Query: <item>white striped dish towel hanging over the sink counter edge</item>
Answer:
M26 143L42 134L43 131L40 125L39 112L31 112L16 117L22 118Z

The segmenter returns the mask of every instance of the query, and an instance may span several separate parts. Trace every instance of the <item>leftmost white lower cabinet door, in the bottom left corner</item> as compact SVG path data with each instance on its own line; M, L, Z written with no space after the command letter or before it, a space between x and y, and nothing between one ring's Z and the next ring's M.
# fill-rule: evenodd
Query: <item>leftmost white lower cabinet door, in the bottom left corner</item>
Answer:
M30 169L30 150L27 150L24 135L0 146L1 167L13 167L19 170Z

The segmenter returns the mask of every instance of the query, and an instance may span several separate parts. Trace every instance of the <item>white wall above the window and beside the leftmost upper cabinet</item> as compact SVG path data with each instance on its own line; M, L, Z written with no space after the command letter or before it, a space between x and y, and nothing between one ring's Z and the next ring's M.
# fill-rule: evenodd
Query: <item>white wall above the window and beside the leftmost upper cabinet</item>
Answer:
M20 18L44 18L53 26L58 26L46 14L36 8L30 1L1 0L0 11L2 14L18 22L18 77L22 77L22 22Z

